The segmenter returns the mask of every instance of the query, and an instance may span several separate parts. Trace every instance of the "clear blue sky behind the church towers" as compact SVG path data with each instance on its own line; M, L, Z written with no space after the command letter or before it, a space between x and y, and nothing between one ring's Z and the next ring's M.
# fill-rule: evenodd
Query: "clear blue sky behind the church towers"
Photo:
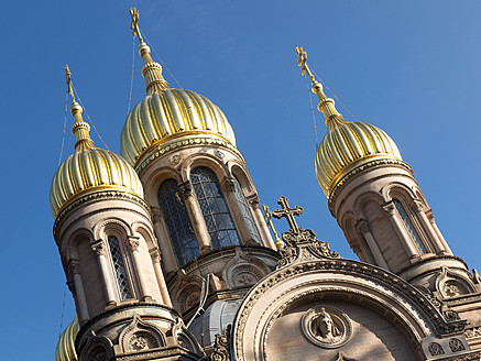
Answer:
M10 1L0 14L2 359L54 358L65 275L48 189L63 139L64 66L103 141L119 152L131 6L182 87L226 113L261 203L274 208L287 196L305 209L300 227L353 258L315 178L309 94L294 53L302 45L350 112L394 139L455 254L481 269L479 1ZM132 106L144 96L140 64L135 51ZM320 140L317 110L316 119ZM73 152L72 124L68 113L63 160ZM67 291L64 327L73 315Z

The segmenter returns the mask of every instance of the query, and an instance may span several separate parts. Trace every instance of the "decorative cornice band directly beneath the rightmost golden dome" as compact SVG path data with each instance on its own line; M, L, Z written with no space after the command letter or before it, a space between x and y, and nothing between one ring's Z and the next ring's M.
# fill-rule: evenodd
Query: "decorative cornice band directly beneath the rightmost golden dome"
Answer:
M337 195L340 192L340 188L343 187L346 184L350 183L352 180L352 178L362 172L367 172L369 169L371 169L372 167L398 167L402 169L406 169L413 177L414 179L414 174L413 174L413 169L411 168L411 166L403 162L403 161L398 161L398 160L394 160L394 158L381 158L381 160L375 160L372 162L368 162L365 164L362 164L356 168L353 168L352 171L350 171L349 173L347 173L343 177L341 177L334 187L331 187L331 190L329 192L329 199L328 199L328 207L330 210L330 214L336 217L336 215L334 214L334 203L336 201ZM389 176L405 176L405 174L385 174L375 178L371 178L367 182L364 182L363 184L361 184L360 186L356 187L356 189L358 189L359 187L363 186L365 183L371 183L375 179L380 179L380 178L384 178L384 177L389 177ZM346 198L346 197L345 197Z

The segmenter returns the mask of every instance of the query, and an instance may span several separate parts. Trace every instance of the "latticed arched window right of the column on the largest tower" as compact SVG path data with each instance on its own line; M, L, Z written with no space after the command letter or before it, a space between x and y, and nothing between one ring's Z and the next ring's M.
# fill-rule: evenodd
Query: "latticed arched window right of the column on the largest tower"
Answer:
M207 167L199 166L190 172L190 183L206 221L212 249L240 244L216 174Z

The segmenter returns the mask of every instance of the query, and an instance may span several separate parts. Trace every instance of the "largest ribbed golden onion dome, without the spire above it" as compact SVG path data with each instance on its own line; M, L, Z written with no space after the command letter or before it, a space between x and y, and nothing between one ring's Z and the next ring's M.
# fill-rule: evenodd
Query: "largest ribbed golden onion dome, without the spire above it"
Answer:
M209 99L190 90L156 90L127 116L120 154L135 165L151 147L193 136L219 138L236 146L226 116Z

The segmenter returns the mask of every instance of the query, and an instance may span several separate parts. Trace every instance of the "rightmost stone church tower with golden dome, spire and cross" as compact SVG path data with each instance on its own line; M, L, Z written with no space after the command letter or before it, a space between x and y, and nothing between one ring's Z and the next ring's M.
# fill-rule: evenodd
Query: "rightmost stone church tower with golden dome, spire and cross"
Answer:
M462 310L479 295L480 278L452 254L396 144L372 124L346 121L307 66L306 53L297 53L326 118L317 179L352 250L362 262L391 271L425 293L456 299L453 309L479 324L478 306Z

